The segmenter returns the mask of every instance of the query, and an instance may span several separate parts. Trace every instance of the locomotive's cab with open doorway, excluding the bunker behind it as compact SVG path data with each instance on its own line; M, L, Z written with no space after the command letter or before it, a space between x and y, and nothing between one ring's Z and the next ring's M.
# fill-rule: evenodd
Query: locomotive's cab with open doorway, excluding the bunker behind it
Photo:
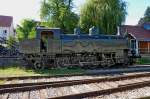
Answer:
M57 51L55 46L60 45L60 33L59 28L38 27L36 38L40 39L40 52L55 53L54 51Z

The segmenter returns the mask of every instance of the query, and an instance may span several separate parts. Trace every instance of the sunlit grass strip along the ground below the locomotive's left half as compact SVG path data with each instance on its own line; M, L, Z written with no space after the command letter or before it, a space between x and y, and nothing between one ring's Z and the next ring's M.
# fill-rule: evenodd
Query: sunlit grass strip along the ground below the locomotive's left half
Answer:
M9 66L0 68L0 77L11 77L11 76L35 76L35 75L58 75L58 74L74 74L84 73L85 70L80 68L74 69L45 69L45 70L34 70L26 69L20 66Z

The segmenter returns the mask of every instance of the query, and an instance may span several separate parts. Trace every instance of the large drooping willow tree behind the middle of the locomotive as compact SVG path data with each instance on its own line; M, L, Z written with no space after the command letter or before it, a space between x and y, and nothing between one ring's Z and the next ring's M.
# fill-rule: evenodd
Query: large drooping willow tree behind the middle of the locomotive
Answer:
M81 8L79 24L86 32L96 26L103 33L115 34L126 14L126 2L122 0L87 0Z

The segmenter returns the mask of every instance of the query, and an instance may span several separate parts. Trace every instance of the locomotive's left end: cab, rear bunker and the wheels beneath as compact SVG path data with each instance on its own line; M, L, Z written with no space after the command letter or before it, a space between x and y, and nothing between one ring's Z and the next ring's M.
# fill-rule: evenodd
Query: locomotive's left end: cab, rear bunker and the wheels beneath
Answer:
M53 64L53 56L61 51L61 30L59 28L36 28L34 39L25 39L20 42L19 51L23 53L23 59L35 69L43 69Z

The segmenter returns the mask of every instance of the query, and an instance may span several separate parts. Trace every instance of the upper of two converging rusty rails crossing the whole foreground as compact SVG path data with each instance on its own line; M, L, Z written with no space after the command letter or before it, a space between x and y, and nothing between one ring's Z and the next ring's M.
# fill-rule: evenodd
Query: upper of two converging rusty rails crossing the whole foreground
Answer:
M20 83L20 84L4 84L0 85L0 88L10 88L10 87L24 87L24 86L33 86L33 85L45 85L45 84L58 84L58 83L69 83L69 84L88 84L95 82L106 82L106 81L117 81L125 79L133 79L140 77L150 77L150 73L143 74L134 74L134 75L125 75L117 77L105 77L105 78L95 78L95 79L82 79L82 80L67 80L67 81L52 81L52 82L37 82L37 83Z

